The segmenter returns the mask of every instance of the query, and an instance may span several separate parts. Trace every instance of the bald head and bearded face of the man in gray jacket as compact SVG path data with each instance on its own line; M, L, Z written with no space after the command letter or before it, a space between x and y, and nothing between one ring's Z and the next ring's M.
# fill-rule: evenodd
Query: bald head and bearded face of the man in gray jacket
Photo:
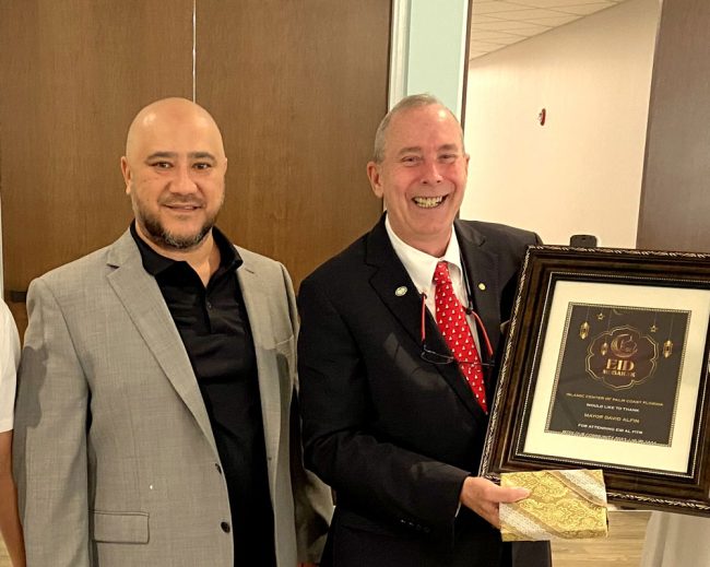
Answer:
M204 108L186 98L143 108L128 129L121 158L139 236L176 259L210 250L226 169L222 134Z

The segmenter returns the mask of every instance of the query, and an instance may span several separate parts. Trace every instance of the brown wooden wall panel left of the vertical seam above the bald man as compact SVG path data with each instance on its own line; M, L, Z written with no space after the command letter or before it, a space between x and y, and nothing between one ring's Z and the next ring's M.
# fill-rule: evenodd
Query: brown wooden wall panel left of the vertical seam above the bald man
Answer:
M4 291L114 240L133 115L192 95L192 0L0 0ZM24 304L10 303L24 328Z

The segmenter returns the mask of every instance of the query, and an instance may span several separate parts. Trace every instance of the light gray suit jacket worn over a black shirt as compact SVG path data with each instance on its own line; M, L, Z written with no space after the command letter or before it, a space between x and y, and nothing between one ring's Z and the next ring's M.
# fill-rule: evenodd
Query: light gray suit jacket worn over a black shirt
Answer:
M291 280L282 264L238 251L276 558L293 567L319 558L332 507L301 465ZM233 567L202 395L130 233L35 280L27 305L14 451L28 565Z

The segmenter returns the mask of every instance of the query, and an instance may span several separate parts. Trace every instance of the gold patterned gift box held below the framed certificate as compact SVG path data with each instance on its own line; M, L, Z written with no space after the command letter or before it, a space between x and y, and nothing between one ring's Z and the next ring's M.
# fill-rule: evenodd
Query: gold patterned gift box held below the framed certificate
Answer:
M502 541L606 538L606 488L597 470L502 473L500 486L530 491L500 505Z

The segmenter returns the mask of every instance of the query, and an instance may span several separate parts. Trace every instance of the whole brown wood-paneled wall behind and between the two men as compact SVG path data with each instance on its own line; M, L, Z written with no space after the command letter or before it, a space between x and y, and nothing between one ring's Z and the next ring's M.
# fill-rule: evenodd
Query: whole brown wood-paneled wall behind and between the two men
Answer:
M0 0L4 291L114 240L143 105L192 96L192 0ZM379 216L390 2L198 0L198 102L229 155L220 225L299 281ZM20 25L21 23L21 25ZM21 329L24 304L9 302Z

